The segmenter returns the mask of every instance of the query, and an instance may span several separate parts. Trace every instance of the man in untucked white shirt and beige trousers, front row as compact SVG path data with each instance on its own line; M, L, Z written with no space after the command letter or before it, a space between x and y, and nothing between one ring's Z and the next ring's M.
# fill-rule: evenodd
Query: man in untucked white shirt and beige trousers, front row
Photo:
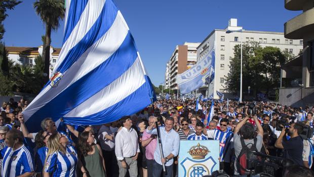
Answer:
M137 157L140 152L137 133L131 128L130 116L120 119L122 128L115 136L115 156L119 165L119 177L125 177L129 169L130 177L137 177Z

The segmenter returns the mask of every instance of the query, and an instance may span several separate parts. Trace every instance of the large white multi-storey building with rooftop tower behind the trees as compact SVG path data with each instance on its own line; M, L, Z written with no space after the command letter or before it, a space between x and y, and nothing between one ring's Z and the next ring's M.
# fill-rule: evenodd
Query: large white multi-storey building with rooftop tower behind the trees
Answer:
M234 46L240 45L241 40L243 43L249 41L257 41L261 47L271 46L277 47L281 51L288 51L294 56L297 56L303 49L303 40L291 40L284 37L283 32L270 32L270 31L251 31L245 30L241 32L226 33L227 29L242 29L237 25L237 19L230 19L229 25L226 29L214 29L197 48L198 61L203 59L207 53L215 47L215 79L213 84L210 84L209 94L214 94L217 99L216 91L224 92L225 98L233 98L231 94L226 91L227 85L225 78L229 73L230 58L234 57ZM240 84L240 83L239 83ZM247 88L243 88L247 89ZM198 93L208 95L208 86L203 86L198 90ZM240 96L240 90L238 95Z

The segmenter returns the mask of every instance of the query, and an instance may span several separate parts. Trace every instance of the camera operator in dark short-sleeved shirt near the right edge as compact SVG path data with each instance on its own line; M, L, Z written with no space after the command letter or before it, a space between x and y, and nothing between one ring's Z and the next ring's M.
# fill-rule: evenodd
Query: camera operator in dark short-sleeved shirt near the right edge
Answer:
M284 149L284 158L292 160L296 165L303 166L302 152L303 152L303 139L299 136L303 131L302 124L292 123L289 127L287 134L290 139L287 140L285 136L286 127L281 131L275 147Z

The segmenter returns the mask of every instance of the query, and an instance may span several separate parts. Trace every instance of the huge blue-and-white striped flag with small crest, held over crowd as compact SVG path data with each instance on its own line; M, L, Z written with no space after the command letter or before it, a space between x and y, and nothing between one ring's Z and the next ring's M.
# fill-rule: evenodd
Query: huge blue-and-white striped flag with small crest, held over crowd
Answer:
M97 125L155 99L121 12L112 0L66 0L62 49L53 77L23 112L30 131L46 117Z

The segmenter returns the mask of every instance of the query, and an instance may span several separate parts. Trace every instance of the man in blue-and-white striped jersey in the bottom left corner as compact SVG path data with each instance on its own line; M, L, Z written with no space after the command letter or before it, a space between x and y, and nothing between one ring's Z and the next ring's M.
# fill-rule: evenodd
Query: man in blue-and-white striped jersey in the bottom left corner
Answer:
M23 133L15 128L6 134L5 141L8 146L1 150L3 158L2 177L27 177L34 174L33 158L24 146L23 139Z

